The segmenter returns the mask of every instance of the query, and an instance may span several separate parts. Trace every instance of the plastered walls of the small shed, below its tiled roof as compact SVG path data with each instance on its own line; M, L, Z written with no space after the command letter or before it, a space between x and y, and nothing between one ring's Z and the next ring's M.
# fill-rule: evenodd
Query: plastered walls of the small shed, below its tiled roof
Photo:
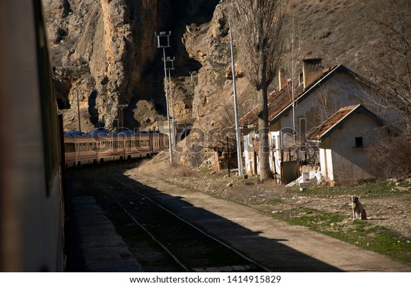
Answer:
M321 174L326 181L371 178L367 166L366 147L384 132L373 118L362 112L349 118L320 144ZM362 137L362 148L356 138Z

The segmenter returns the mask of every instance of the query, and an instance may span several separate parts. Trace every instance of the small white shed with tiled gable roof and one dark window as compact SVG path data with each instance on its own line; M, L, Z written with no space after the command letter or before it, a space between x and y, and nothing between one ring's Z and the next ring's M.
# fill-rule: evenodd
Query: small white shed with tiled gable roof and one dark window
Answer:
M319 146L321 176L324 181L369 179L366 147L388 136L379 116L364 106L342 107L308 134Z

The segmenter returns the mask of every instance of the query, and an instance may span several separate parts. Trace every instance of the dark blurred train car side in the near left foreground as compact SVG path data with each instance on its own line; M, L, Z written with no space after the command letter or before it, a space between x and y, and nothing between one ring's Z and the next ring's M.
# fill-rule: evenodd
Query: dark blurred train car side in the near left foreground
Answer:
M0 1L0 271L64 270L60 124L40 0Z

